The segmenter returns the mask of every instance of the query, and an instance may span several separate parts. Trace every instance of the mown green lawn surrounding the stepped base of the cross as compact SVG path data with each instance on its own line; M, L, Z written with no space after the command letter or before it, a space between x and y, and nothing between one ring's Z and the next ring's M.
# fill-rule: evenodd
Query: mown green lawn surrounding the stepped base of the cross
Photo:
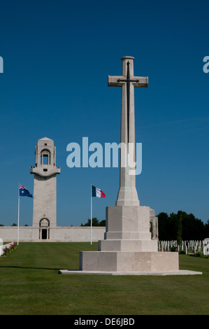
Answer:
M180 255L203 275L64 275L93 243L20 243L0 258L0 315L209 314L209 259Z

